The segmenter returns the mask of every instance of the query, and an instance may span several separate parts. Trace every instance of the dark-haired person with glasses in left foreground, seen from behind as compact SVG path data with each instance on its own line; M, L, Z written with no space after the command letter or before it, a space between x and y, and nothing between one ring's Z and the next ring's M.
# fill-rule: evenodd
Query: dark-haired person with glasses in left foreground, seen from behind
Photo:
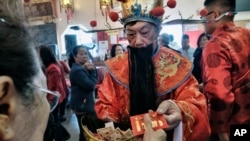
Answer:
M21 15L22 3L0 3L0 140L43 141L50 110L46 78ZM51 106L51 107L50 107Z

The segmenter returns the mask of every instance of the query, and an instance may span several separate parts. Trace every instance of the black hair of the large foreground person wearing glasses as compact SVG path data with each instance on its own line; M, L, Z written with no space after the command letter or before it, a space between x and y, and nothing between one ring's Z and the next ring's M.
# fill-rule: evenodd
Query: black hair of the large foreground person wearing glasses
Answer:
M22 12L13 13L20 6L9 5L11 2L0 3L0 76L9 76L20 96L29 102L34 98L29 84L33 83L40 66L24 17L19 15Z

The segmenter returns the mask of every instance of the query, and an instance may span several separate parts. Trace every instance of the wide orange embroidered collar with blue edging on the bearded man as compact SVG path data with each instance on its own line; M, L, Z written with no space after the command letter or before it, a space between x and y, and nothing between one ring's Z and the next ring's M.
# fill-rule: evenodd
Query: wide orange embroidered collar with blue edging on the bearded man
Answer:
M128 60L128 52L126 52L107 60L105 63L112 77L126 88L129 87ZM166 47L158 49L153 55L153 62L159 96L176 89L191 75L192 63Z

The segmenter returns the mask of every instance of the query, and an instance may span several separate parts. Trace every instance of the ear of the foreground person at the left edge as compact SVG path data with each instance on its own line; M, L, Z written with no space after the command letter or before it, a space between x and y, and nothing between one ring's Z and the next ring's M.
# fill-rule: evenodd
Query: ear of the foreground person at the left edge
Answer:
M13 122L16 90L12 79L0 76L0 140L11 140L14 137Z

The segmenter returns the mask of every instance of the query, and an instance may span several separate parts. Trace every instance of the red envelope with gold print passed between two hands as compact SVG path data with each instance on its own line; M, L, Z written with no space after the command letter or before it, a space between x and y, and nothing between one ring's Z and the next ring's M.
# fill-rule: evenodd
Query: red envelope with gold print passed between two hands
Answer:
M144 134L144 115L136 115L130 117L130 122L132 125L132 131L134 136ZM164 129L168 127L166 120L164 119L163 115L157 114L156 112L149 113L152 121L152 127L154 130L157 129Z

